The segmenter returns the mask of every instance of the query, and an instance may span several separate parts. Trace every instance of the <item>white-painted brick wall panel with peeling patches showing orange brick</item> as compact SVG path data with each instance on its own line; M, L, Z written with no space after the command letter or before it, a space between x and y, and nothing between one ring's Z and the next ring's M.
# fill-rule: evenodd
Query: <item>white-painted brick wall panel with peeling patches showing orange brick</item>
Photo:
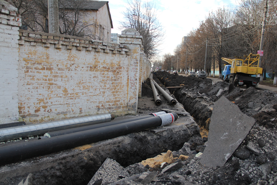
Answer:
M23 30L19 35L24 121L136 113L141 36L122 35L127 44L115 44Z

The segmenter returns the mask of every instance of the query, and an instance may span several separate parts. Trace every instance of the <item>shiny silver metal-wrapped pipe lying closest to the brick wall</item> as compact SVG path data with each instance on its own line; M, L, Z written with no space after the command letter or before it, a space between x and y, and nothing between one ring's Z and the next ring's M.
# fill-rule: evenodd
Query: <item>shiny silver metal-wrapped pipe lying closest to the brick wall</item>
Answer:
M4 128L0 129L0 142L10 141L18 138L43 135L47 132L53 132L57 130L71 129L80 126L109 122L113 119L114 115L105 113L92 116L70 118L66 120L50 121L46 123L37 123L31 125Z

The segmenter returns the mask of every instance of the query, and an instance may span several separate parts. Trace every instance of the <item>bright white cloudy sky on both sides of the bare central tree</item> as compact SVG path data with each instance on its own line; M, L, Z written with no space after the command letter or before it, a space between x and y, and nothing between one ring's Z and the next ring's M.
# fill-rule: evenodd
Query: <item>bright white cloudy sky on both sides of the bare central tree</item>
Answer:
M119 21L122 12L128 6L127 0L108 0L114 29L112 33L121 34ZM144 1L144 0L142 0ZM200 21L211 11L219 7L234 6L238 0L155 0L158 19L164 27L165 37L160 55L173 54L175 47L182 42L182 37L199 26Z

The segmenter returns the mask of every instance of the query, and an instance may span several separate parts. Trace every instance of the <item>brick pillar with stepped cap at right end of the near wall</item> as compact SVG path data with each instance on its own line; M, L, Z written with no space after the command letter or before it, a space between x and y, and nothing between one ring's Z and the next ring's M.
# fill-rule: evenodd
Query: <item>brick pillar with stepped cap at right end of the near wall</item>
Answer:
M142 36L133 28L126 29L118 35L120 44L127 45L130 49L130 56L126 60L124 67L128 71L128 92L127 109L131 114L135 114L138 108L138 92L139 92L139 61L140 61L140 49L142 48ZM140 84L141 85L141 84Z

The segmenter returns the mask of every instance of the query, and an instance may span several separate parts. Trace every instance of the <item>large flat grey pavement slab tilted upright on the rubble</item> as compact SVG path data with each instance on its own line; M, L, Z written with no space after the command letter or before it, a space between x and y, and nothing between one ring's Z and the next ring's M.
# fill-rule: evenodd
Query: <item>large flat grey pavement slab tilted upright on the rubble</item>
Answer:
M254 123L254 118L243 114L237 105L222 96L214 104L208 146L201 157L201 165L223 166L247 136Z

